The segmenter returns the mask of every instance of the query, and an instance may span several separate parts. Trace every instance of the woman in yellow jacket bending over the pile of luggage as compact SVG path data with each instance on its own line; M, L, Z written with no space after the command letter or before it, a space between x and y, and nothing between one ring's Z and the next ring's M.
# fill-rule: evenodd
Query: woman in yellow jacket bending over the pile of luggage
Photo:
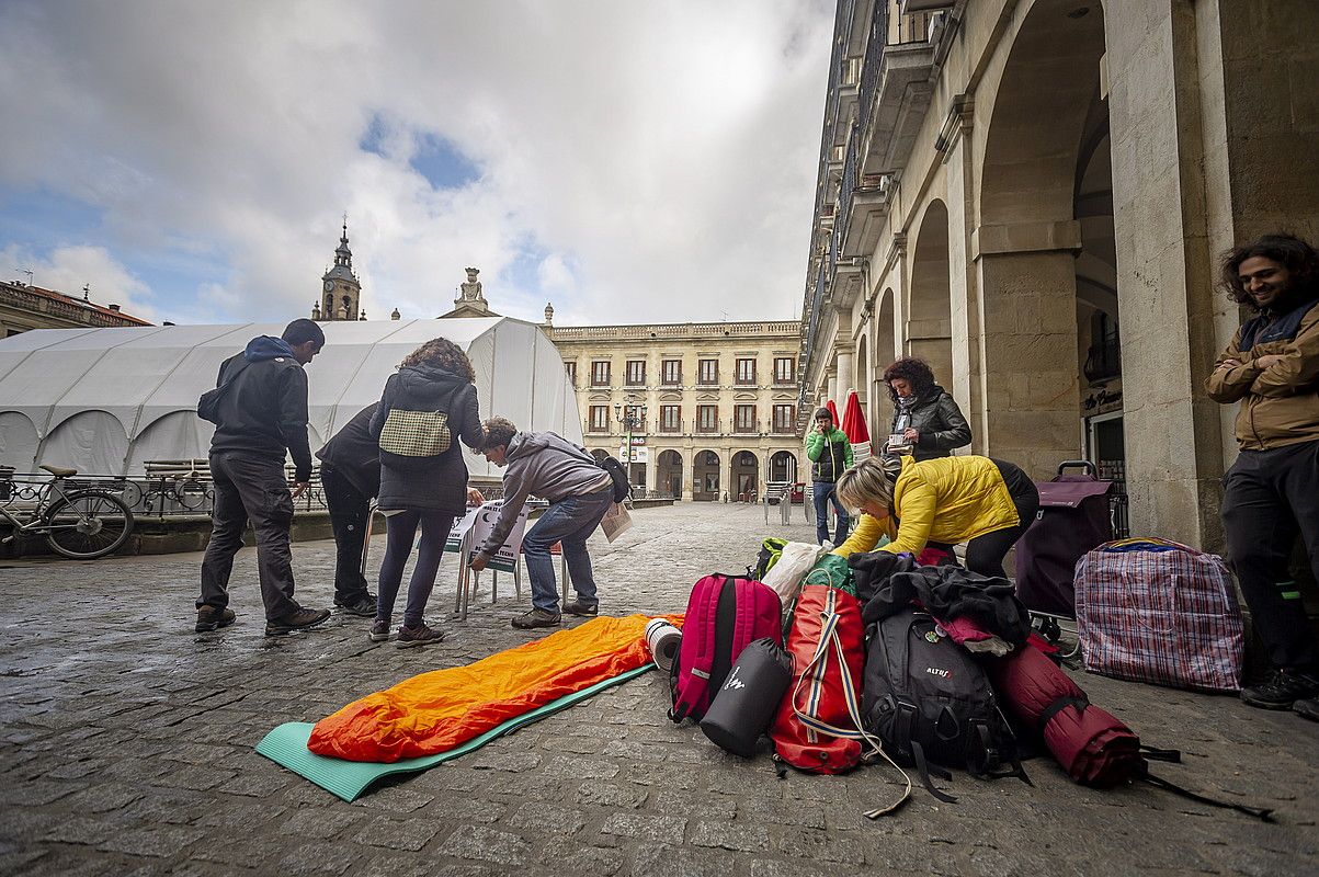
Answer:
M881 535L892 541L878 550L892 554L967 542L968 570L1004 578L1002 559L1039 510L1026 473L988 456L872 456L839 477L838 497L863 514L834 554L873 551Z

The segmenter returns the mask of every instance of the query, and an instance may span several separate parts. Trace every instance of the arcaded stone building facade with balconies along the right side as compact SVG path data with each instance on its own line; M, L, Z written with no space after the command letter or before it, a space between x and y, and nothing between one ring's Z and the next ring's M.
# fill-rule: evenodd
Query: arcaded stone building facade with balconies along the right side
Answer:
M1319 236L1316 32L1308 0L840 0L802 415L856 386L886 433L918 355L972 452L1100 460L1132 533L1219 549L1215 261Z

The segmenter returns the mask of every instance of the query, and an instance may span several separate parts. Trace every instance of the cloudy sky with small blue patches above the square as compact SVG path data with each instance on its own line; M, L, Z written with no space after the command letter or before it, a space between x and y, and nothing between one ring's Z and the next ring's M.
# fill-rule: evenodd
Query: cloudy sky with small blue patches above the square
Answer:
M0 277L148 319L795 319L831 0L0 3Z

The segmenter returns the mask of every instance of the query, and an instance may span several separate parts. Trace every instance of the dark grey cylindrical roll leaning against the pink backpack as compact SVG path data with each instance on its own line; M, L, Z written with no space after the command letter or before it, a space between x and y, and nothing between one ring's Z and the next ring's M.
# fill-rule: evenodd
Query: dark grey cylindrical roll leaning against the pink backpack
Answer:
M793 657L770 638L747 645L715 694L700 729L716 745L751 758L793 680Z

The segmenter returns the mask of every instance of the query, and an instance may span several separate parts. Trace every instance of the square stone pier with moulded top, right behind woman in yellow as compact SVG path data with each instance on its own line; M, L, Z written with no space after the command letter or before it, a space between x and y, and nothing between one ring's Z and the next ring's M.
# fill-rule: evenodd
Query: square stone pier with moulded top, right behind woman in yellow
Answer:
M1078 223L981 226L972 237L984 351L993 376L976 411L981 452L1034 479L1080 454L1076 369Z

